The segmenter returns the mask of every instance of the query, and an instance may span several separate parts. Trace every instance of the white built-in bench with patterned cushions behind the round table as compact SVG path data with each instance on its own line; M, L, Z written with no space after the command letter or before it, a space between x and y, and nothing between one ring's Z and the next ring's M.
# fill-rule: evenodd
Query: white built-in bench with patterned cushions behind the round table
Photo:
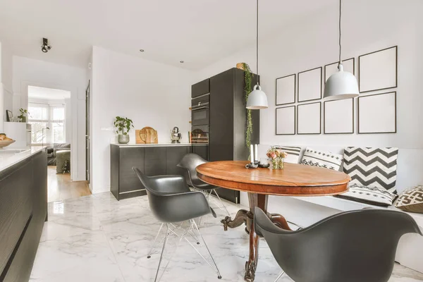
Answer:
M260 145L261 155L271 145ZM309 226L327 216L355 209L393 209L407 212L423 231L422 213L422 152L415 149L370 148L370 147L328 147L312 149L306 146L278 146L288 152L286 162L321 166L343 171L350 175L350 191L337 197L271 197L269 209L299 226ZM333 154L332 152L336 152ZM398 158L398 161L397 161ZM321 161L323 159L323 161ZM398 170L398 176L397 176ZM413 175L415 178L410 178ZM397 177L400 180L398 185ZM364 189L370 188L366 192ZM413 195L412 190L414 192ZM397 192L398 191L398 192ZM398 195L399 196L398 196ZM415 206L407 197L413 197ZM363 197L363 195L365 197ZM417 197L419 195L419 197ZM378 200L374 200L378 197ZM403 197L403 198L401 198ZM241 204L245 200L241 196ZM418 203L417 203L418 202ZM417 212L417 205L420 208ZM408 209L407 209L408 207ZM417 234L404 235L398 245L396 261L411 269L423 272L423 238Z

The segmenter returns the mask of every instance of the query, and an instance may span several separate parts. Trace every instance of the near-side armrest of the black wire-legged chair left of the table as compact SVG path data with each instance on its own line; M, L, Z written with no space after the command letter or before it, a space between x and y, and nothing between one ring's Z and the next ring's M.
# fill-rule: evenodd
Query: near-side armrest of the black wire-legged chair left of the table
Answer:
M160 204L161 209L153 212L163 222L187 221L212 212L202 192L167 194L154 198L159 201L156 204Z

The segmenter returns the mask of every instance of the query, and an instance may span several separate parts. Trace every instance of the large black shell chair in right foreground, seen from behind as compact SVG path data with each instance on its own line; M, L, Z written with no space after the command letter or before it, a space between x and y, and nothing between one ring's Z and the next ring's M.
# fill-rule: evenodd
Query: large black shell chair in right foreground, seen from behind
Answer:
M255 208L255 232L295 282L386 282L405 233L419 233L403 212L360 209L323 219L299 231L278 228Z

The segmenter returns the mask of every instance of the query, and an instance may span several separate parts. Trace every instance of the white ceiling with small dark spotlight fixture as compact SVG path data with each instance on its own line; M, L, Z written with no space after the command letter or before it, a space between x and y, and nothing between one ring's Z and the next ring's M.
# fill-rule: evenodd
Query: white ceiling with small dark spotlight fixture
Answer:
M260 1L260 38L337 4ZM1 0L0 42L15 55L71 66L86 67L97 45L195 70L255 42L255 5L254 0ZM47 54L40 50L42 37L52 46Z

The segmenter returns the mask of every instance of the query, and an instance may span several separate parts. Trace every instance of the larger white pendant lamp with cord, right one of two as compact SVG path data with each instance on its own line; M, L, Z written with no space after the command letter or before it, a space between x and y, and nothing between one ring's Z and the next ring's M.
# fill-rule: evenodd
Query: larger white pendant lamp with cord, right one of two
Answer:
M353 73L343 71L341 61L341 6L342 0L339 0L339 64L338 72L331 75L326 81L324 87L324 99L326 100L340 100L357 97L358 92L357 79Z

